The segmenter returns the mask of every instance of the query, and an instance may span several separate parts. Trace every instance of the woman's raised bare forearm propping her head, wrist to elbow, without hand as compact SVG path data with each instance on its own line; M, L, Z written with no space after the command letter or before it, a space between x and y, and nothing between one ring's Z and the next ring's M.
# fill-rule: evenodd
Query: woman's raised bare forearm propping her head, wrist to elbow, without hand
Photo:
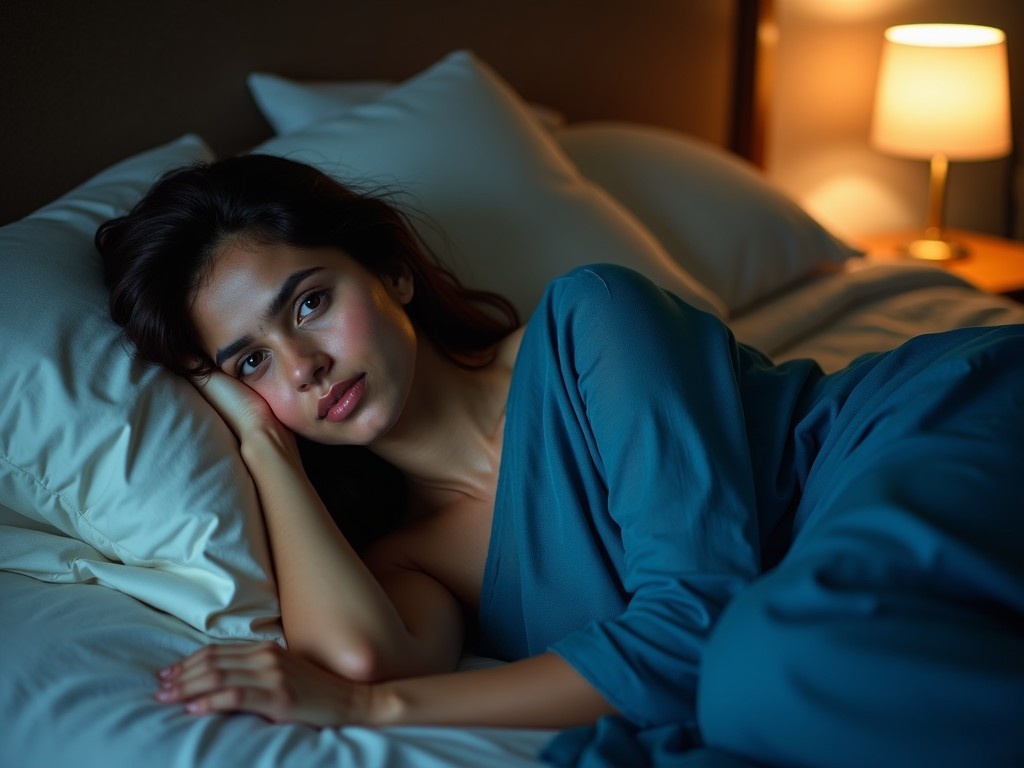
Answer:
M410 635L324 508L294 443L248 435L242 454L266 520L289 647L351 680L450 668L458 645L424 648Z

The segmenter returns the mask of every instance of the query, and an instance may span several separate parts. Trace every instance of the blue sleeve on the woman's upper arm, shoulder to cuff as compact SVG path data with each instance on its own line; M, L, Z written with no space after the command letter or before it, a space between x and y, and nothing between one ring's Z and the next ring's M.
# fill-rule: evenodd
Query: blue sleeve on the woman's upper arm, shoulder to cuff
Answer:
M718 318L617 267L556 281L543 308L621 529L617 617L556 642L623 715L695 721L705 639L759 571L742 355ZM596 511L595 514L603 514Z

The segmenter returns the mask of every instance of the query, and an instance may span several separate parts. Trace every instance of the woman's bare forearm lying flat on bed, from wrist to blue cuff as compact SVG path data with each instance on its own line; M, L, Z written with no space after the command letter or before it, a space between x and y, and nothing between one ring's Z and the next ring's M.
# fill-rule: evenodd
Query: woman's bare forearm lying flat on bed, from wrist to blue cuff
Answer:
M614 708L554 653L374 686L372 725L569 728Z

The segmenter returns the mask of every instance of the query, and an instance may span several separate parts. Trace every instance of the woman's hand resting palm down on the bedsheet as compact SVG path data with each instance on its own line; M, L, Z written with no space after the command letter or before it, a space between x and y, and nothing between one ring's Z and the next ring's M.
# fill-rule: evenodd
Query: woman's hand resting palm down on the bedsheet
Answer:
M276 643L207 645L159 675L157 699L193 715L250 712L273 722L373 724L373 686L351 683Z

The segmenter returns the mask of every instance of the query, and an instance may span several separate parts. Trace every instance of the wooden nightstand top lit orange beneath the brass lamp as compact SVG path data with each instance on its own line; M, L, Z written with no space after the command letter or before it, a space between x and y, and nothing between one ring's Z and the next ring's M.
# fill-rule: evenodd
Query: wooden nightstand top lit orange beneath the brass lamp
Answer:
M982 291L1024 301L1024 242L966 229L946 229L946 240L961 243L968 254L961 259L932 262L910 259L900 253L900 246L921 237L920 229L885 234L866 234L852 245L866 251L872 261L912 261L948 269Z

